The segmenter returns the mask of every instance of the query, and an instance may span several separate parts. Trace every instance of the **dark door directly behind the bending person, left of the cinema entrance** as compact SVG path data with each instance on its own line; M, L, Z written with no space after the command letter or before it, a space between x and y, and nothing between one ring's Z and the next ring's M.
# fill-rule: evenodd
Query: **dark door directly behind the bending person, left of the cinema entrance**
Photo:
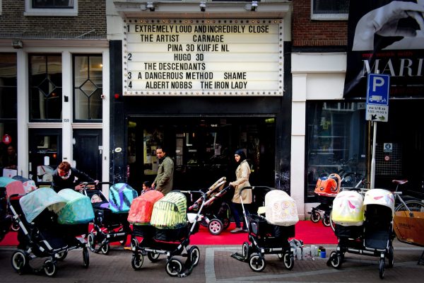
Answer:
M95 180L102 180L102 130L74 129L73 138L76 168Z

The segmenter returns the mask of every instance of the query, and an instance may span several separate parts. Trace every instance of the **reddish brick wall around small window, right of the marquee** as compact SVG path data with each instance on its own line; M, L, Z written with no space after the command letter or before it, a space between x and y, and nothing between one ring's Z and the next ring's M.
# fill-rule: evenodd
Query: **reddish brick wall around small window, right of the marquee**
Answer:
M348 21L312 21L311 0L293 0L293 47L346 46Z

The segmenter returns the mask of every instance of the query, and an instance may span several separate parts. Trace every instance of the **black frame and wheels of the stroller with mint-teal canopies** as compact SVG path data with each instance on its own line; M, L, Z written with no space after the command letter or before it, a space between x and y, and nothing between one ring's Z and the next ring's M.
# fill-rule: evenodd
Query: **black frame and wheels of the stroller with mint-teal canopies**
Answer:
M12 267L16 272L22 275L25 272L34 272L36 274L44 270L45 274L49 277L54 277L57 274L57 262L64 260L68 255L69 250L75 250L77 248L83 249L83 266L88 268L90 265L90 258L88 254L87 243L83 238L75 238L74 244L71 245L66 243L66 246L60 248L53 248L49 241L42 236L40 230L33 223L28 223L23 220L18 210L13 207L11 199L18 202L18 198L24 195L14 194L8 197L8 207L12 212L13 221L18 224L20 230L18 233L22 233L24 238L18 239L27 241L27 244L23 246L22 243L18 245L18 250L13 252L12 255ZM19 204L18 204L19 205ZM83 224L83 226L88 224ZM28 227L27 227L28 226ZM81 227L81 224L79 225ZM34 241L34 238L39 241ZM35 258L47 258L41 267L35 268L30 266L30 260Z

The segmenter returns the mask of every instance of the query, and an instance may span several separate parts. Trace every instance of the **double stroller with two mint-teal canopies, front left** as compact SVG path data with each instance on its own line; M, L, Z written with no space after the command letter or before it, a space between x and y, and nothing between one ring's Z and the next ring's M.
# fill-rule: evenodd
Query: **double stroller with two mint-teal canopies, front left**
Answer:
M93 220L88 197L71 189L54 192L43 187L20 197L8 198L13 218L18 222L18 250L12 255L12 267L16 272L41 272L53 277L57 262L64 260L69 250L83 249L83 266L88 267L89 255L85 239L88 223ZM30 261L47 258L35 268Z

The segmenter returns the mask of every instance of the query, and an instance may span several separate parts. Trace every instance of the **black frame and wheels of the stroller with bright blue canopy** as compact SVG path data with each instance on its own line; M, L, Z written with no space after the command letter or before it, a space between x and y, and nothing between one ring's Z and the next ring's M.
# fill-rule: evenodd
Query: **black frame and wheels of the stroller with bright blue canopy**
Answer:
M93 195L98 194L103 201L107 201L107 198L103 194L102 190L95 189L95 186L113 185L110 182L83 184L84 187L83 190L81 190L83 195L92 197ZM126 220L128 213L112 213L105 209L96 209L95 207L93 207L93 211L95 216L93 229L91 229L87 236L88 248L90 248L93 253L99 253L101 251L104 255L107 255L110 252L110 243L119 241L122 246L125 246L126 238L131 235L131 227L129 226L129 222ZM105 214L102 215L102 213ZM109 218L112 217L113 219L110 221ZM107 218L107 222L105 222L105 218ZM118 229L118 231L116 231L116 229ZM98 245L98 243L100 243L100 245Z

